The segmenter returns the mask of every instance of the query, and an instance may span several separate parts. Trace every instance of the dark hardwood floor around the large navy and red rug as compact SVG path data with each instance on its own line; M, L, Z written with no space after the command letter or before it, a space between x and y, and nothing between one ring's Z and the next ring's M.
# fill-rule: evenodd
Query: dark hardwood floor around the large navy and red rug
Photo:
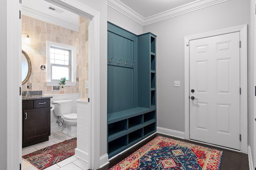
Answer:
M121 160L123 160L124 158L126 158L127 156L129 156L130 154L135 152L136 150L138 150L140 147L142 147L143 145L145 145L146 143L148 143L149 141L151 141L152 139L154 139L154 137L156 137L158 135L164 136L164 137L169 137L169 138L176 139L176 140L179 140L179 141L184 141L184 142L187 142L187 143L193 143L193 144L196 144L196 145L201 145L203 147L222 150L223 154L222 154L220 170L249 170L249 162L248 162L248 155L247 154L234 152L234 151L230 151L230 150L226 150L226 149L220 149L220 148L216 148L216 147L211 147L211 146L208 146L208 145L202 145L200 143L195 143L195 142L192 142L192 141L187 141L187 140L184 140L184 139L170 137L170 136L162 135L162 134L158 134L158 133L152 135L150 138L146 139L142 143L139 143L138 145L134 146L132 149L124 152L123 154L117 156L116 158L113 158L112 160L110 160L110 163L108 165L104 166L103 168L100 168L100 170L110 169L111 167L116 165L118 162L120 162Z

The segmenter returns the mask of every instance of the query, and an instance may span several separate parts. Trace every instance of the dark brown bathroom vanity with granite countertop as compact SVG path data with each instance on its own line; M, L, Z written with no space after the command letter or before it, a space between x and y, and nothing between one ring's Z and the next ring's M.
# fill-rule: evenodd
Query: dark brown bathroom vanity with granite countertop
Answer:
M22 96L22 148L49 140L50 98Z

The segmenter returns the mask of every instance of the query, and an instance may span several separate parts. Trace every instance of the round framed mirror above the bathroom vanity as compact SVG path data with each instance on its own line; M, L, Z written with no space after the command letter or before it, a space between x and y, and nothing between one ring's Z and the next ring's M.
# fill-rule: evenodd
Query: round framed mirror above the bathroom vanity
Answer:
M25 84L31 74L31 61L28 54L22 50L22 85Z

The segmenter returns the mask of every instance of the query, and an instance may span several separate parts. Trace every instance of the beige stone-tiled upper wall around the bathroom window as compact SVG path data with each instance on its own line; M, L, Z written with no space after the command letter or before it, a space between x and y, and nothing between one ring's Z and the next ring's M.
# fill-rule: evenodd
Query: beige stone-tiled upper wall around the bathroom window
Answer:
M30 37L30 44L26 44L23 42L26 34L22 34L22 49L28 54L32 63L31 76L28 82L22 85L22 91L26 90L28 83L31 83L31 90L42 90L44 95L80 93L82 98L87 97L88 92L86 94L84 84L83 86L80 85L80 79L83 80L82 83L84 83L84 80L88 80L88 21L85 18L79 18L80 24L77 32L22 15L22 33L28 33ZM76 86L64 86L64 88L60 87L60 90L53 90L52 86L47 86L46 70L40 69L41 65L47 67L47 40L76 46L78 54L76 57L76 61L78 61Z

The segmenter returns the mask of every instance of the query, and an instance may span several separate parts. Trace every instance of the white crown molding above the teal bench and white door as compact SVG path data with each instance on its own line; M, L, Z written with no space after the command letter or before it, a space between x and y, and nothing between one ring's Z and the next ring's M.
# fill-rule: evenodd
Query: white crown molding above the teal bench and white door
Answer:
M192 11L200 10L208 6L220 4L226 1L229 1L229 0L196 0L189 4L185 4L177 8L173 8L165 12L161 12L159 14L149 16L146 18L142 17L140 14L138 14L137 12L135 12L134 10L132 10L131 8L129 8L128 6L120 2L119 0L108 0L108 6L120 12L124 16L127 16L131 20L134 20L140 25L144 26L144 25L148 25L158 21L167 20L169 18L186 14Z

